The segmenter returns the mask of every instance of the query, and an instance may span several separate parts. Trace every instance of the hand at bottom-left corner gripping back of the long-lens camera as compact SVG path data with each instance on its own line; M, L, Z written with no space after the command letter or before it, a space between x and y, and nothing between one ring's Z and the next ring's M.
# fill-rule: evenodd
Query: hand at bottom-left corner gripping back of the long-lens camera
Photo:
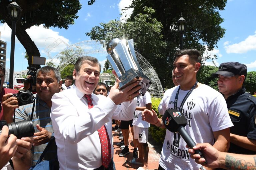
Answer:
M13 157L17 150L17 137L11 134L9 137L9 128L3 126L2 133L0 135L0 168Z

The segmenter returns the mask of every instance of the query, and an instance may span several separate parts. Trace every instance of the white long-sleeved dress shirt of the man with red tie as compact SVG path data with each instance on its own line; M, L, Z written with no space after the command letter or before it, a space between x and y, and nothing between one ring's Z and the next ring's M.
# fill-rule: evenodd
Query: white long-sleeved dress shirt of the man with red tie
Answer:
M118 106L108 97L92 94L88 109L84 94L73 85L52 97L51 119L58 146L60 170L93 170L101 164L98 129L105 124L112 141L112 119L131 120L136 102ZM113 157L113 145L111 153Z

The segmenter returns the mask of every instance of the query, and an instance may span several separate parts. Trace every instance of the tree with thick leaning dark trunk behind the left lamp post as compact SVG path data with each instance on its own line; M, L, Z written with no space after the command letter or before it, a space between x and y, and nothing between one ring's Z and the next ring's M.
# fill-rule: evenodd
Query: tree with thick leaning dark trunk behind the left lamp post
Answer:
M9 3L11 3L9 0L0 1L0 22L7 23L12 28L12 21L6 8ZM27 34L26 29L40 24L43 24L45 28L59 27L68 29L69 25L74 24L74 20L78 18L77 12L81 9L79 0L18 0L17 4L22 11L21 18L16 24L16 37L27 51L29 66L31 66L32 55L40 56L40 52Z

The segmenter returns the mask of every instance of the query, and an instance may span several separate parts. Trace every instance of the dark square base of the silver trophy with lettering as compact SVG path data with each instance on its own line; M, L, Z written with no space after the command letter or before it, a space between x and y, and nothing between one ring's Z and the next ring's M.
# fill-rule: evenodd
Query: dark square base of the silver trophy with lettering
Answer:
M129 69L123 75L121 75L119 80L121 81L119 83L120 89L123 89L126 86L132 84L134 81L140 81L141 89L139 90L140 94L138 96L144 96L149 86L152 84L152 81L145 74L133 68Z

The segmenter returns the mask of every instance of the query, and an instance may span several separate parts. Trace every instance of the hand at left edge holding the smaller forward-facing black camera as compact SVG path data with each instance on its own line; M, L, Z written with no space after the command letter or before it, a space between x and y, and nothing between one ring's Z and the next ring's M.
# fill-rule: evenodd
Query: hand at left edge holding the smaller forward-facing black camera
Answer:
M11 96L12 93L7 93L2 99L4 120L6 120L7 123L13 122L12 116L14 109L19 107L17 97Z

